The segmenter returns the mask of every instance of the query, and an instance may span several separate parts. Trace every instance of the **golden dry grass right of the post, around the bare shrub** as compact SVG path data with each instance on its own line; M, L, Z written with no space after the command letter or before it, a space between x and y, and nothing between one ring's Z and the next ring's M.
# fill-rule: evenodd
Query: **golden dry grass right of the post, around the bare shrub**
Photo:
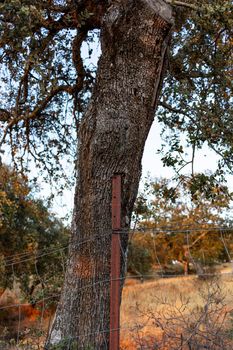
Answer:
M161 327L155 325L155 318L161 317L169 311L176 313L177 317L177 312L180 312L180 318L183 320L175 320L178 331L178 325L180 324L182 327L185 318L190 320L190 316L196 312L195 310L203 308L203 293L206 292L206 288L211 283L213 282L202 281L194 276L158 279L144 284L129 280L123 290L121 306L121 349L156 349L156 347L149 347L148 344L151 339L161 339L164 332ZM226 312L233 309L232 276L221 275L218 284L221 287L221 295L225 299L224 306L219 307L219 313L222 313L222 316L219 316L216 322L223 322ZM162 322L164 324L164 320ZM142 339L148 340L147 345ZM178 349L175 346L158 348L161 350ZM233 346L229 347L229 349L232 348ZM188 347L182 348L182 350L185 349ZM196 348L192 347L191 349ZM215 347L209 349L215 349ZM216 347L216 349L218 348Z

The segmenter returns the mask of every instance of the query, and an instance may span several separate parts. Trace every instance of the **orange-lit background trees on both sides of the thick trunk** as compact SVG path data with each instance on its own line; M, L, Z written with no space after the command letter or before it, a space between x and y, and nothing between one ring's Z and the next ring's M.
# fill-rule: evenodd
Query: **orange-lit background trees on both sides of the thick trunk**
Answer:
M204 267L229 261L228 252L233 248L231 195L220 184L210 189L209 199L198 196L191 201L191 195L187 183L179 187L167 179L145 183L134 207L129 273L144 275L161 269L169 274L199 273ZM1 166L1 292L18 283L32 304L42 293L59 293L69 234L45 201L32 195L28 179Z

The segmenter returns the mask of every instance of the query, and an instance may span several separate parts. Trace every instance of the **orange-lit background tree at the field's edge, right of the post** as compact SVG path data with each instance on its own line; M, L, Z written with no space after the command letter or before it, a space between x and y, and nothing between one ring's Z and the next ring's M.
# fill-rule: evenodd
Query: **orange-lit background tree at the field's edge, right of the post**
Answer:
M198 273L204 273L201 266L229 260L224 240L230 247L231 195L227 194L226 187L216 184L209 189L209 199L198 196L191 201L190 186L193 186L192 182L174 188L170 180L151 180L145 185L145 193L136 201L137 228L131 245L135 245L135 249L140 245L154 264L160 263L164 267L164 271L173 261L179 261L185 274L190 263ZM143 234L144 230L149 230L151 235ZM132 259L130 266L134 261L137 263L133 254L129 257Z

